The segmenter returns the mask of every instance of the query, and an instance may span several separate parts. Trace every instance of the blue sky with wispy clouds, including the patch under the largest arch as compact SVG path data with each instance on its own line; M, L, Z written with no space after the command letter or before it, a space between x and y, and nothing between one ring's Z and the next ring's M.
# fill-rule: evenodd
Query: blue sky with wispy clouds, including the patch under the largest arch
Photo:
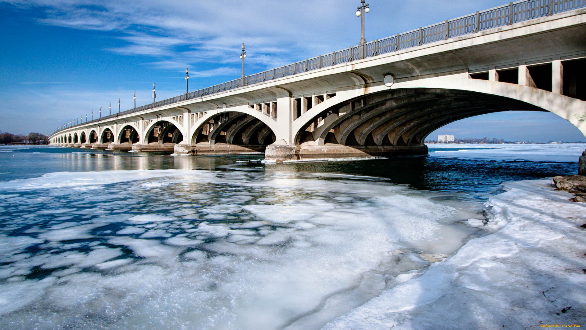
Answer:
M502 5L502 0L369 2L367 40ZM52 132L66 120L152 102L355 45L357 0L0 0L0 130ZM585 141L551 113L473 117L430 134Z

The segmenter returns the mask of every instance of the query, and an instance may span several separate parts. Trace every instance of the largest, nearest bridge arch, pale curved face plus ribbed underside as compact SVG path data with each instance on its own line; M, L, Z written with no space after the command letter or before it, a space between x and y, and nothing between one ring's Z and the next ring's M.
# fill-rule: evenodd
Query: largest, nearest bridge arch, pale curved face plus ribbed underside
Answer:
M295 146L423 146L425 137L445 124L507 110L552 112L586 136L586 124L580 122L586 102L535 87L479 79L412 80L372 93L349 93L333 105L316 108L294 122Z

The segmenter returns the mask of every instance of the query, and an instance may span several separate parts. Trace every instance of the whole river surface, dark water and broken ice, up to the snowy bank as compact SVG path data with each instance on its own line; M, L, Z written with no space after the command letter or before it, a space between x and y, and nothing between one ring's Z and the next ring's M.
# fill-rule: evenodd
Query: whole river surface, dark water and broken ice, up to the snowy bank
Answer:
M319 329L490 234L505 181L585 144L263 164L0 147L0 328Z

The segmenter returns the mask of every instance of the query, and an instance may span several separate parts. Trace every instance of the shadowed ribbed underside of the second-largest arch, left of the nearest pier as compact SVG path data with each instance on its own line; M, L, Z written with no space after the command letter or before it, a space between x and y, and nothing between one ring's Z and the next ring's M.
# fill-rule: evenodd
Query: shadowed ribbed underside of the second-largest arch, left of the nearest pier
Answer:
M224 112L211 117L193 134L192 144L230 144L253 150L264 150L275 142L275 134L267 124L240 112Z

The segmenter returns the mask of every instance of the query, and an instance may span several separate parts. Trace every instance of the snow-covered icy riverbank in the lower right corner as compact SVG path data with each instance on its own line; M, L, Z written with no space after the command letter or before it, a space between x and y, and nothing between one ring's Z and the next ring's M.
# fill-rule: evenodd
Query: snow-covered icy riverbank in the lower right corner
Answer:
M571 203L550 180L504 187L487 203L493 230L500 230L412 278L404 274L405 282L323 329L585 326L586 204Z

